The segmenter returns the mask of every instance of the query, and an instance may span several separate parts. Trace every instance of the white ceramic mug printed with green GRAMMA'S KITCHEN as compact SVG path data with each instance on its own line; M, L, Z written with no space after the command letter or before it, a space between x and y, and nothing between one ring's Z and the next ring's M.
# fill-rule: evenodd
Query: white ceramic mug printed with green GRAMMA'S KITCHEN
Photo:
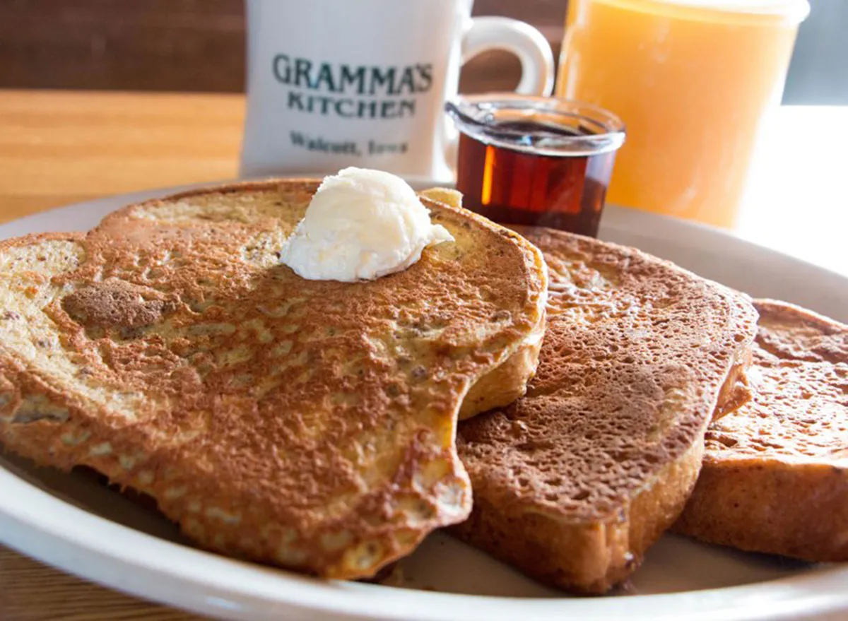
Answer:
M550 95L550 45L532 26L471 18L473 0L247 0L242 175L378 168L452 178L444 102L460 65L501 48L517 92Z

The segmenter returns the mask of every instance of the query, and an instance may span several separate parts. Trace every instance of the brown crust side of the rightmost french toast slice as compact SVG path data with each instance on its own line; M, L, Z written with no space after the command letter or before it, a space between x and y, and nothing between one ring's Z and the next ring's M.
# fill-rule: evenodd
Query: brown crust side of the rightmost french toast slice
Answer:
M784 320L823 331L848 330L801 306L773 299L754 303ZM842 462L706 453L695 490L672 530L744 551L848 562L848 454Z

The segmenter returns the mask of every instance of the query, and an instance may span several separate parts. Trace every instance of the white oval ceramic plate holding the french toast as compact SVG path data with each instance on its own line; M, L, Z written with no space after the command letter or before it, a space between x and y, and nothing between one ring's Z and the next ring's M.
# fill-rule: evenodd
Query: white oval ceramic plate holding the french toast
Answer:
M421 183L421 185L427 185ZM0 226L0 238L84 230L174 189L71 205ZM673 260L755 296L848 322L848 279L706 227L607 208L600 237ZM220 618L838 619L848 566L806 565L667 535L617 595L571 598L433 534L402 562L404 588L308 579L198 551L155 512L80 473L0 452L0 540L83 578Z

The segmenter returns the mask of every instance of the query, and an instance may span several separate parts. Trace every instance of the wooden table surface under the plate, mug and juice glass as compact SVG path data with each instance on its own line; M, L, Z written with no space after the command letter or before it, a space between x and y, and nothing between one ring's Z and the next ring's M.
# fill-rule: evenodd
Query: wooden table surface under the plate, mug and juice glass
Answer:
M0 221L237 175L241 95L0 91ZM789 108L762 139L736 233L848 273L848 109ZM0 619L176 621L0 546Z

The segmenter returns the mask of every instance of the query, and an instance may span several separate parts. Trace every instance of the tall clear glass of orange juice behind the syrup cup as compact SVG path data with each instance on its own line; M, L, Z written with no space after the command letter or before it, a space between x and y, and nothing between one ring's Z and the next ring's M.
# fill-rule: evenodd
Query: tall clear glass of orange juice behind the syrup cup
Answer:
M570 0L557 95L618 115L613 204L733 227L806 0Z

